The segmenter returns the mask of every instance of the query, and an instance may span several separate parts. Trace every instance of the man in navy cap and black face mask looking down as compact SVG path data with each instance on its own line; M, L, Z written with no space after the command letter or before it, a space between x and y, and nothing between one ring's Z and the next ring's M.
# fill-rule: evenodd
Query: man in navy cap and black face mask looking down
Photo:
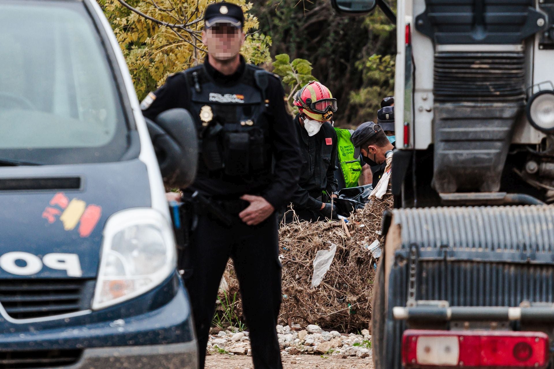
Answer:
M354 147L360 148L362 160L377 170L373 172L373 188L379 183L379 179L384 173L382 164L386 163L387 153L394 150L394 146L388 141L386 134L379 124L366 122L360 124L352 133L352 143Z

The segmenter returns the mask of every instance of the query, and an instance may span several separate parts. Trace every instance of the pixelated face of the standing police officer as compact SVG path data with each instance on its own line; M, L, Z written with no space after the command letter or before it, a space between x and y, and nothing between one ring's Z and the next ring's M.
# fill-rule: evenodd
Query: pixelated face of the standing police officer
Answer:
M244 43L244 34L241 28L217 23L202 31L202 42L214 59L225 61L238 55Z

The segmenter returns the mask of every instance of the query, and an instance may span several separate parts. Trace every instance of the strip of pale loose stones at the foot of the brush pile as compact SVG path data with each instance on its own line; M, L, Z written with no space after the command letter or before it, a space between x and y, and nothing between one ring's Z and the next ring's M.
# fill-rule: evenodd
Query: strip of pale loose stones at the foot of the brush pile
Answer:
M276 329L281 356L306 354L363 358L372 354L367 329L361 334L325 331L317 325L308 325L301 331L294 331L288 325L278 325ZM239 332L236 328L210 335L207 350L209 354L252 355L248 332Z

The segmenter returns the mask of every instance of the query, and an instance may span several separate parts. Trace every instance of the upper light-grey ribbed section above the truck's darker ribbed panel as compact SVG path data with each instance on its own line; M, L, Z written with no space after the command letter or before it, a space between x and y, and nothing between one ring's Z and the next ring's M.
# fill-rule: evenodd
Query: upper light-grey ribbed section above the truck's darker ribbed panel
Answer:
M554 264L554 206L429 207L399 209L402 248L514 251L550 256ZM526 261L525 258L523 261Z

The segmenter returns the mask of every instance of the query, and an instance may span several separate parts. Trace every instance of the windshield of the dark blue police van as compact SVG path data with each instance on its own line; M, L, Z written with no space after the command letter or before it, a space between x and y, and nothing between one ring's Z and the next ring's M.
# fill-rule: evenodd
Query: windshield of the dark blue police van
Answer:
M82 2L0 2L1 162L112 162L129 129Z

